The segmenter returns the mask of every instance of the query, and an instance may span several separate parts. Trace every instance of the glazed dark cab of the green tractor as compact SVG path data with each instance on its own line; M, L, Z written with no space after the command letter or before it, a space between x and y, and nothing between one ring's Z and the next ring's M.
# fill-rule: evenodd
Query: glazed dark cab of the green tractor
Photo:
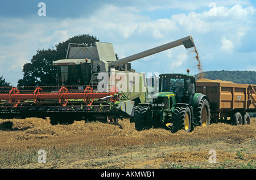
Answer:
M196 93L195 76L187 74L159 75L159 92L172 92L178 103L191 103L191 95Z

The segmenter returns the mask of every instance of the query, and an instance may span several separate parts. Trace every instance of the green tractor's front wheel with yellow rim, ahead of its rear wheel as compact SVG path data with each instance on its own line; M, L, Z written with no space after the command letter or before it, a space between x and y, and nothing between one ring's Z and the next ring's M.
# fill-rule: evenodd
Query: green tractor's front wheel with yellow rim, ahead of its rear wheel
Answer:
M191 132L191 110L189 107L176 107L174 110L174 117L172 118L174 125L171 132L175 133L179 130Z

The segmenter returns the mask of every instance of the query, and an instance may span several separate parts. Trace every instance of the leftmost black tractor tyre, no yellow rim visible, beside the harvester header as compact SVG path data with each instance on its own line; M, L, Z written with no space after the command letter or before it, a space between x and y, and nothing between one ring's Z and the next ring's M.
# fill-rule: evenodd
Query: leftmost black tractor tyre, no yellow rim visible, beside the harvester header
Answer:
M134 112L135 130L142 131L151 128L152 125L148 121L149 108L147 106L138 106Z

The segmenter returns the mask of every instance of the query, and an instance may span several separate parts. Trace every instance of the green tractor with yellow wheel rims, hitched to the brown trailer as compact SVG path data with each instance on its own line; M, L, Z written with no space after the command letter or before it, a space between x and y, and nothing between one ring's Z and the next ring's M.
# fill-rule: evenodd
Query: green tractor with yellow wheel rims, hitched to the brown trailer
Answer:
M159 92L152 103L135 107L134 123L138 131L165 127L176 132L191 132L195 126L210 124L208 97L197 93L195 76L188 74L159 75Z

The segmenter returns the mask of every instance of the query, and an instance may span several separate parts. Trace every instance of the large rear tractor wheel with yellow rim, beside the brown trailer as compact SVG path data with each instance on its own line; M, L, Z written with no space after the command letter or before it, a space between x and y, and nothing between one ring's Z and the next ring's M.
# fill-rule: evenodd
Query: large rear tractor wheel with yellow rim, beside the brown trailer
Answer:
M196 120L199 126L210 125L210 106L205 98L200 101L199 106L196 108Z

